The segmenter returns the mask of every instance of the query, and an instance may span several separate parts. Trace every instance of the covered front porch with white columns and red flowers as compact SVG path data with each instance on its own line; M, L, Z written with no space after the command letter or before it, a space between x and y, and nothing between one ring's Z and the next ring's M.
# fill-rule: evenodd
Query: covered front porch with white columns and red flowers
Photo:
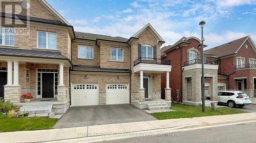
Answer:
M51 103L51 112L65 113L69 108L69 67L67 58L56 51L1 48L1 92L5 100L24 111ZM4 74L3 74L4 73ZM31 103L20 96L32 93ZM46 104L46 102L48 102ZM55 104L55 103L61 104Z

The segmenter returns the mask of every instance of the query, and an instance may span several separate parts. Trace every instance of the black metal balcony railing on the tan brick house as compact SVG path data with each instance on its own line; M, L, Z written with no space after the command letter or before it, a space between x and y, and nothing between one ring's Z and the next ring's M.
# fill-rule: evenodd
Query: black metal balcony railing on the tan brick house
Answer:
M144 64L158 64L158 65L171 65L170 60L156 59L156 58L139 58L134 61L134 66Z

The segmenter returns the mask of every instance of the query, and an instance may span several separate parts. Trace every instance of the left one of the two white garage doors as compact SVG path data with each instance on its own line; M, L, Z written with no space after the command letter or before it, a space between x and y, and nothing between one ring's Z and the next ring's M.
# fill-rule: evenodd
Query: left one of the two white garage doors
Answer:
M73 83L72 106L98 105L97 83Z

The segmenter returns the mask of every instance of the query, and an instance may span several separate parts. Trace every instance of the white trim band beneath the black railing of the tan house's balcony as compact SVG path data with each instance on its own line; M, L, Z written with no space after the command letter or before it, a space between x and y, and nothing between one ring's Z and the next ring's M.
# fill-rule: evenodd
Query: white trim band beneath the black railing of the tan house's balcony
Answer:
M172 65L143 64L140 63L133 67L133 72L152 71L156 73L164 73L172 71Z

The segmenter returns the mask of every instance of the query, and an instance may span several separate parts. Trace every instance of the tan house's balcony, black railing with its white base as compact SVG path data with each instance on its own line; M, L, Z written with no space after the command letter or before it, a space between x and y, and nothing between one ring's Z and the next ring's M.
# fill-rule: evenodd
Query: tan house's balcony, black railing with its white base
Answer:
M172 70L170 60L156 58L139 58L134 61L133 71L145 73L165 73Z

